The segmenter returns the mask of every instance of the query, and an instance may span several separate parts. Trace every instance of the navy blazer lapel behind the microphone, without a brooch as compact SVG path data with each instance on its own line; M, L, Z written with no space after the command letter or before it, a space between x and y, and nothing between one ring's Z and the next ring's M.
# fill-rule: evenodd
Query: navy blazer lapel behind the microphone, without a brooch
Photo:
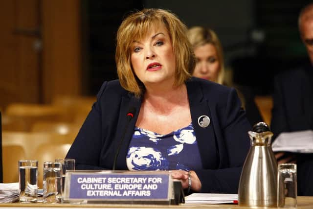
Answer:
M134 133L134 127L138 118L140 105L141 98L136 98L133 94L128 94L122 97L121 109L116 127L117 134L114 139L114 155L116 154L120 143L122 143L116 160L116 168L118 170L127 170L126 155L130 140ZM127 114L132 108L135 109L134 117L128 121Z

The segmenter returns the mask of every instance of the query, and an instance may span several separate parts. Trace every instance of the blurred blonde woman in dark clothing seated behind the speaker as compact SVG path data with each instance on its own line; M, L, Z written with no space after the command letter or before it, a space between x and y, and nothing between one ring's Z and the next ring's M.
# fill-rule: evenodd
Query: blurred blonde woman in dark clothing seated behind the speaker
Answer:
M216 33L209 28L194 26L188 30L188 39L196 56L193 76L226 86L234 86L231 85L231 81L225 82L223 48ZM236 89L250 124L263 121L250 88L236 86Z

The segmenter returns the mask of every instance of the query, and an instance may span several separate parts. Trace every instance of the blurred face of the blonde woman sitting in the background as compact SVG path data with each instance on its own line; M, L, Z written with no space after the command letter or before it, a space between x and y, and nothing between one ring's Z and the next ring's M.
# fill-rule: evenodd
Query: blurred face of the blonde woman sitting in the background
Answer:
M216 47L212 44L198 46L195 48L195 56L197 62L193 76L217 82L221 66Z

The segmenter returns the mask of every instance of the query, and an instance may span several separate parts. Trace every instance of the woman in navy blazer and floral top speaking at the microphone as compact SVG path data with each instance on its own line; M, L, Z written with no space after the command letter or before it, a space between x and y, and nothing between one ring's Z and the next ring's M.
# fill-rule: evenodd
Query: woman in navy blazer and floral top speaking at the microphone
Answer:
M188 190L237 193L250 125L235 90L191 78L186 32L162 9L122 22L119 80L104 82L67 154L77 169L172 170Z

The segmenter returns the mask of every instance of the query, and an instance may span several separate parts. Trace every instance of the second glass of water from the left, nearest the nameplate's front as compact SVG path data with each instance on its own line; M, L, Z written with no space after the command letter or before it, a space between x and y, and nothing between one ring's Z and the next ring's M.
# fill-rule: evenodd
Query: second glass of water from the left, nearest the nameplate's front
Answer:
M61 163L44 163L44 203L62 203Z

